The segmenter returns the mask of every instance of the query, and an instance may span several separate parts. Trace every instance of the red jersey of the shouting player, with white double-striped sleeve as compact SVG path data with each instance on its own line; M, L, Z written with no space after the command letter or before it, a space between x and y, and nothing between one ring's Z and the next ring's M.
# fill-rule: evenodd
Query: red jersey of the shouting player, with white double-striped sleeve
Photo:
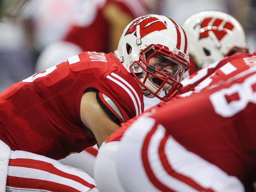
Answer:
M88 88L111 98L125 121L144 110L138 82L114 54L83 52L0 94L0 139L12 150L53 159L93 146L97 141L80 118Z

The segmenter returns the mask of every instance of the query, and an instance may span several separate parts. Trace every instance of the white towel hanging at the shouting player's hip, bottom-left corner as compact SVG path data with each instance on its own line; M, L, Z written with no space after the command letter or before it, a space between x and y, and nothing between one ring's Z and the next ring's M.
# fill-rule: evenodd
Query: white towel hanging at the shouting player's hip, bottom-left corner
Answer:
M10 155L10 147L0 140L0 192L5 192Z

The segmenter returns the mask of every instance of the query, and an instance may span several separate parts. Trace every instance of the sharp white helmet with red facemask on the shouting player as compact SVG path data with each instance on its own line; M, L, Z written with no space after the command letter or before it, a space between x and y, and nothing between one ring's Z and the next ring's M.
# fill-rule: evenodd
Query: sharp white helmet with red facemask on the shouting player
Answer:
M182 88L182 75L190 68L187 43L184 30L172 19L162 15L144 15L124 29L115 56L139 82L146 97L168 101ZM149 59L155 54L178 65L172 76L149 64ZM160 82L159 86L148 80L149 75ZM165 91L162 97L161 91Z

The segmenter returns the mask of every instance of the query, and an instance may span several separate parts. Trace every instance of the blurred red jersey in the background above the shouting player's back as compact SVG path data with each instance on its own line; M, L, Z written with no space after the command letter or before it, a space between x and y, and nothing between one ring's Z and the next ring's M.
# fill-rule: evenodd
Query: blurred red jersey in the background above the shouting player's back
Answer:
M80 14L81 18L75 18L77 23L73 23L65 36L64 40L79 45L83 51L98 51L109 52L109 39L110 39L110 23L103 16L103 9L106 4L115 4L123 11L131 16L137 18L141 15L148 14L143 0L106 0L103 5L102 1L95 1L94 6L81 7L86 10L80 10L81 13L88 12L89 15ZM117 15L118 17L118 15ZM77 20L81 20L78 22ZM85 21L83 21L85 20ZM127 23L128 24L128 23ZM121 35L121 34L120 34ZM100 43L99 43L100 42Z

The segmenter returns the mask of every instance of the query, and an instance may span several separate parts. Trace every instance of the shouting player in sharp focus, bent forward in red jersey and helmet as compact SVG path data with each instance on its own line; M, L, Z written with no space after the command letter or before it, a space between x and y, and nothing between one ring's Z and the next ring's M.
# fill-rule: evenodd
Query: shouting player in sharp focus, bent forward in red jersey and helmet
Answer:
M143 95L174 97L190 67L187 51L179 24L144 15L124 29L115 55L83 52L12 85L0 94L0 186L8 173L6 190L96 189L87 174L56 160L100 146L143 112Z

